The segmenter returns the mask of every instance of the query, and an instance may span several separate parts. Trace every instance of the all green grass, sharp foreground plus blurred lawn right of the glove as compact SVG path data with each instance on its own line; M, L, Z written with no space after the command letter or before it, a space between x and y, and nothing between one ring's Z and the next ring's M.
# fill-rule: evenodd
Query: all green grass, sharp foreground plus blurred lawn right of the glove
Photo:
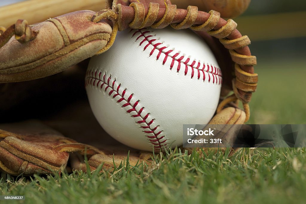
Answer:
M305 124L303 61L259 64L251 124ZM0 195L25 195L0 203L305 203L306 154L302 149L241 149L197 153L178 150L154 164L123 164L113 172L75 172L61 177L9 177Z

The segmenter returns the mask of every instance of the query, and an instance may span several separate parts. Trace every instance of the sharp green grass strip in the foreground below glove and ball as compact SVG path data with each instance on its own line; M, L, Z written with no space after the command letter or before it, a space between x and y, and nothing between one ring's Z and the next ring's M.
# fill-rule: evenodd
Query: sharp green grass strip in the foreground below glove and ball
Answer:
M176 150L158 155L147 168L121 165L101 174L9 177L0 182L0 194L25 195L24 203L305 202L305 149L242 149L230 158L227 154L211 151L203 159L196 152Z

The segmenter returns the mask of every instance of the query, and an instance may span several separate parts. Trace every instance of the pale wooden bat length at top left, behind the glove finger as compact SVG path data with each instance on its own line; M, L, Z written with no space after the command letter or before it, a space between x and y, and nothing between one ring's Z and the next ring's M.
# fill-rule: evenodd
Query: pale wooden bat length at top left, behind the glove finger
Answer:
M18 19L29 24L78 10L105 9L105 0L28 0L0 7L0 26L9 27Z

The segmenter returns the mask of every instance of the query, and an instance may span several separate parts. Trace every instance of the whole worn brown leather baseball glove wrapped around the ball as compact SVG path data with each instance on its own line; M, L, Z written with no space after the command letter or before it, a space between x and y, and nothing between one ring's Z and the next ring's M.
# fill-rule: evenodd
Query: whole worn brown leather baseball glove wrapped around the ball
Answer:
M128 152L132 165L149 162L149 152L119 144L103 132L84 89L86 59L108 50L117 31L127 28L170 25L194 30L211 47L223 74L220 103L210 124L248 121L248 103L258 80L253 69L256 57L248 48L248 36L240 34L233 20L196 6L179 9L170 0L114 0L106 7L98 13L67 13L34 26L17 20L7 29L0 27L2 172L60 172L69 157L69 166L86 170L84 154L91 170L100 164L114 168Z

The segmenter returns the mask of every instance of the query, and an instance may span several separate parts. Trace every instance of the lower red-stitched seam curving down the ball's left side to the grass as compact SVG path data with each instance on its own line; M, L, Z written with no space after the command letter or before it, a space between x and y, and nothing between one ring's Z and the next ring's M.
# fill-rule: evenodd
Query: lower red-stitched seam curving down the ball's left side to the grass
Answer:
M159 125L151 127L154 119L151 119L151 121L149 122L146 121L150 113L147 113L144 117L142 117L141 113L143 112L144 107L140 107L139 111L136 110L140 106L139 100L137 100L135 103L132 103L131 99L133 97L133 94L129 95L129 97L126 97L125 96L126 88L120 94L119 89L121 87L121 83L118 84L115 79L110 84L111 75L106 80L106 72L105 72L103 75L103 80L101 80L102 71L99 71L98 76L97 74L98 74L97 70L95 72L93 70L87 71L85 87L91 85L92 87L100 88L100 90L104 91L105 93L107 92L108 89L110 89L108 95L114 98L117 101L117 103L123 102L123 105L121 107L128 108L126 113L129 113L135 119L136 123L140 125L140 128L144 129L143 132L146 133L146 137L148 141L153 145L154 150L159 151L162 147L167 148L168 144L166 143L167 141L166 135L158 137L163 132L163 130L161 131L157 130ZM140 120L137 120L137 118L140 118Z

